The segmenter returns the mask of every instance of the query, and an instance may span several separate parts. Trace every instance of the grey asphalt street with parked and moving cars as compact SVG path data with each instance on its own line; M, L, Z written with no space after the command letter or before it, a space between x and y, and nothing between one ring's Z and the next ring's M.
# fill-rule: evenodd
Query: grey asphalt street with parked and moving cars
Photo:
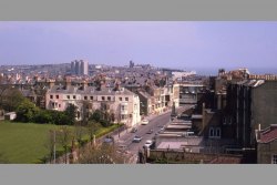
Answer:
M178 107L177 111L183 112L189 107L192 107L192 105L184 105ZM136 155L138 153L138 150L143 148L143 145L145 144L146 140L153 140L155 133L157 133L161 127L171 122L171 112L166 112L164 114L156 115L147 120L150 121L148 124L138 125L137 132L131 133L130 131L124 131L123 133L121 133L120 137L117 136L116 143L120 145L125 145L129 152ZM150 131L151 129L154 132L152 134L147 134L147 131ZM140 143L132 142L135 135L142 136L142 141Z

